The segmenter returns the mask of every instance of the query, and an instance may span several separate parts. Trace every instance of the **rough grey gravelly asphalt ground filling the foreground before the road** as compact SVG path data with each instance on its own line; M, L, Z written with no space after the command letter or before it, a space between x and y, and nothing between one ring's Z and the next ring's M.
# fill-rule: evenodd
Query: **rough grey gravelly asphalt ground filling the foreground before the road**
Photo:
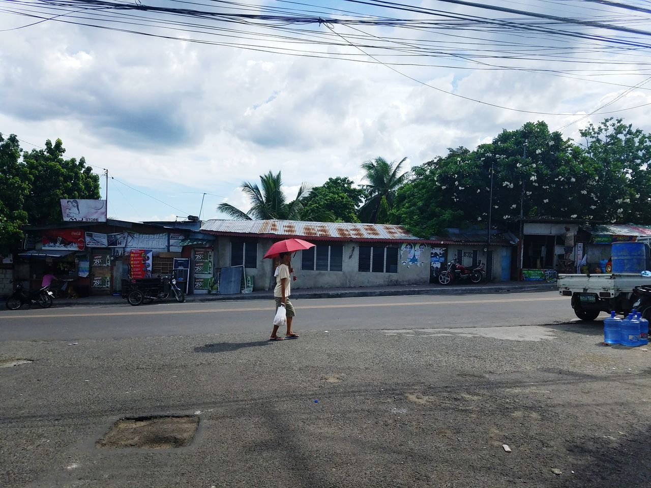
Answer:
M0 485L649 487L651 350L599 343L580 324L3 342L34 362L0 368ZM95 446L152 414L199 416L191 445Z

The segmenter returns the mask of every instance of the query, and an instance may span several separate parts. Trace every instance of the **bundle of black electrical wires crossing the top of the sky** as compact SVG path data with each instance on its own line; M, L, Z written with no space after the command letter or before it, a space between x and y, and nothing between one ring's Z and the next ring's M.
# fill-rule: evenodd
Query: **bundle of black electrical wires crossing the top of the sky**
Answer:
M539 0L536 8L518 1L437 0L430 8L383 0L309 2L0 0L0 12L31 18L5 33L57 21L211 46L382 64L446 93L451 92L405 70L515 70L650 89L644 87L651 79L650 1ZM611 81L615 75L632 81ZM636 107L624 110L631 108Z

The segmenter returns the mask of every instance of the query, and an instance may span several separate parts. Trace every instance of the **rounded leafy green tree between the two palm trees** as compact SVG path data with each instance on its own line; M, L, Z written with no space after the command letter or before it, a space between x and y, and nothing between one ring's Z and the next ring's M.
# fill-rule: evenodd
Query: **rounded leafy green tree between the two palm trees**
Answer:
M329 221L359 222L357 207L361 204L365 192L353 185L349 178L329 178L323 185L312 188L309 195L303 199L305 212L312 215L329 213Z

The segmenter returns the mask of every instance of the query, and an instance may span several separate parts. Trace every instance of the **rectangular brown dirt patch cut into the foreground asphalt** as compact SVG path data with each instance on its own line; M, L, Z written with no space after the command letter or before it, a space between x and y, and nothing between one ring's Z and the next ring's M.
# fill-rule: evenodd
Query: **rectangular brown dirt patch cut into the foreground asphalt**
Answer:
M194 415L120 418L95 445L98 448L180 448L192 442L198 426L199 417Z

